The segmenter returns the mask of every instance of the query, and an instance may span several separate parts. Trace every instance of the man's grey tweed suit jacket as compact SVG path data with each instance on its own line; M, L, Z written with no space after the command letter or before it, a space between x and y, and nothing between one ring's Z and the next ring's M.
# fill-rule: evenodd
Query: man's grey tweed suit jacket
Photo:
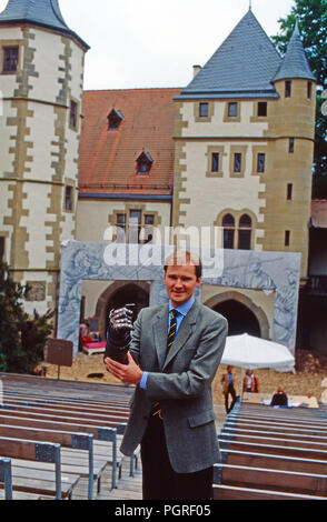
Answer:
M167 353L168 304L142 309L130 353L148 371L147 389L136 387L121 452L141 442L153 402L162 410L167 449L177 473L192 473L219 461L211 381L227 335L227 321L197 301L182 320Z

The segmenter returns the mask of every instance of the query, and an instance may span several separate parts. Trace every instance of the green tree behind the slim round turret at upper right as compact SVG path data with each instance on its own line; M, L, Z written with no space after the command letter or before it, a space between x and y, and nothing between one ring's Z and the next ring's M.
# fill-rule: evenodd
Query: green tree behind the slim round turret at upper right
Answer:
M281 56L287 50L296 21L318 83L313 197L327 198L327 118L321 113L321 91L327 89L327 0L295 0L290 13L278 20L280 30L272 41Z

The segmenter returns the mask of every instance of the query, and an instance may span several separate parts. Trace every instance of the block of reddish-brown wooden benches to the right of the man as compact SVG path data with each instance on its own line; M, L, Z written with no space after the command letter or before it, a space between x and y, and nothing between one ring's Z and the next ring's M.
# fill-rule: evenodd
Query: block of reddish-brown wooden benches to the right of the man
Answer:
M218 438L215 499L327 500L324 411L238 402Z

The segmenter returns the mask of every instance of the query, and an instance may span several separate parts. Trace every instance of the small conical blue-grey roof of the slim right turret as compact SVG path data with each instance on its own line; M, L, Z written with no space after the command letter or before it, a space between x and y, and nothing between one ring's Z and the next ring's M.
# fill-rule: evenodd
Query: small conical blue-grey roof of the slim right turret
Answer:
M303 46L298 22L296 22L293 37L289 41L286 54L274 78L274 81L289 78L304 78L317 81L311 72L305 49Z

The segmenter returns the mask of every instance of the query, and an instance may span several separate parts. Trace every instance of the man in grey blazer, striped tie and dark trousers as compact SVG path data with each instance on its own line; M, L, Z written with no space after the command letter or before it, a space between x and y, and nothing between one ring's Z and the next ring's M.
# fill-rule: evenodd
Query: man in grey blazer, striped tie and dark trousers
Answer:
M164 281L169 304L140 311L128 364L105 358L108 371L136 384L120 450L131 455L141 444L145 500L210 499L219 461L211 382L227 321L195 300L201 263L194 254L167 260Z

